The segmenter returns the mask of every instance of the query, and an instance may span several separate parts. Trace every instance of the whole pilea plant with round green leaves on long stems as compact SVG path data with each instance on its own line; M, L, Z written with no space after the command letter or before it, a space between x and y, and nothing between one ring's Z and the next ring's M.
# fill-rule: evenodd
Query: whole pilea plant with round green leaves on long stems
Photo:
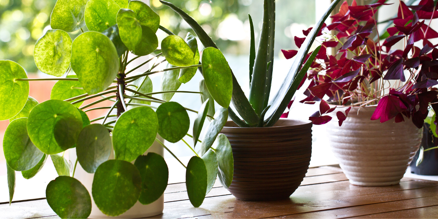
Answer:
M157 134L169 142L184 141L194 152L187 166L170 152L187 169L192 205L202 204L218 173L223 186L230 186L233 153L219 131L228 118L233 76L219 49L208 47L200 55L194 35L188 33L182 39L160 27L158 14L138 0L58 0L50 18L53 29L36 42L34 57L39 70L58 78L30 79L17 63L0 60L0 101L5 103L0 105L0 120L10 120L3 141L10 201L15 171L32 178L50 155L59 177L48 184L46 197L61 218L88 217L90 192L98 208L111 216L126 212L137 201L152 203L163 194L169 177L161 155L143 155L155 141L170 152ZM89 31L83 31L85 25ZM157 49L155 34L159 28L169 33L161 49ZM82 34L72 40L67 32L79 29ZM128 60L129 53L137 56ZM144 57L147 55L152 58ZM141 58L145 58L142 64L127 69L133 60ZM158 69L165 61L166 69ZM148 63L148 71L133 73ZM204 76L201 92L177 91L197 69ZM159 73L161 92L154 93L148 76ZM58 82L50 100L38 103L28 96L29 81L44 80ZM170 102L175 92L201 94L201 109ZM153 97L158 94L162 99ZM82 106L88 99L95 101ZM90 108L105 100L113 101L113 106ZM214 101L221 106L216 111ZM151 106L151 102L156 104ZM109 110L106 116L90 121L86 112L95 109ZM187 111L198 114L193 121L193 136L188 134ZM201 141L205 118L211 122ZM200 154L183 139L185 136L193 139L193 147L200 142ZM69 148L76 148L73 168L64 158ZM115 159L109 159L112 151ZM95 174L92 191L74 178L78 162L86 172Z

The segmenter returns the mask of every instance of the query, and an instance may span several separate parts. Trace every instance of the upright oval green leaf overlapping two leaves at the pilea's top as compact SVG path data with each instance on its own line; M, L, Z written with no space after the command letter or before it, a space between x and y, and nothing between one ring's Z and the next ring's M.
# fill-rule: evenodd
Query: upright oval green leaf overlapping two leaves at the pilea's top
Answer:
M117 26L119 26L120 39L129 50L135 51L135 46L140 42L142 29L134 11L122 8L117 13Z

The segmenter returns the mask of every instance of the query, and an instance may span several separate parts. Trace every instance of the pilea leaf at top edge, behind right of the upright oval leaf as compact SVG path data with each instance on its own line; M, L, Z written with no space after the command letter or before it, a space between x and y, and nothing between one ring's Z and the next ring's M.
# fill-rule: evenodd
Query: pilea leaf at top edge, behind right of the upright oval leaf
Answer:
M135 16L141 25L147 26L155 33L160 26L160 16L147 4L139 0L131 0L128 8L135 12Z

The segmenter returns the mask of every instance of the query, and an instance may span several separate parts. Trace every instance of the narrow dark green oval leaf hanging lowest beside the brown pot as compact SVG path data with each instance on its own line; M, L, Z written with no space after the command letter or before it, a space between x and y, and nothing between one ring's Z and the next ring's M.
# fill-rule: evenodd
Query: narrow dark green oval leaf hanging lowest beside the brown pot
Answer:
M193 156L187 164L186 187L191 204L198 208L204 201L207 191L207 169L204 161Z

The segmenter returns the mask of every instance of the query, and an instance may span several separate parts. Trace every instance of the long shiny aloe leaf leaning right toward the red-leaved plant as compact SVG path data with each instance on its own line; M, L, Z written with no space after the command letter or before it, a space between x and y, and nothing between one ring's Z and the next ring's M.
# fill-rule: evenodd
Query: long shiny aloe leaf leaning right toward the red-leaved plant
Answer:
M274 95L272 101L269 103L269 105L271 105L271 108L269 108L268 112L266 113L266 118L269 118L270 121L268 122L267 126L272 126L279 120L281 114L283 114L284 110L286 109L287 104L290 102L293 95L297 91L297 87L304 77L304 74L301 76L298 75L298 73L300 72L301 65L303 64L307 53L309 53L309 49L312 43L314 42L316 35L321 30L322 24L329 17L330 13L336 7L339 1L340 0L334 0L332 2L330 7L327 9L327 11L325 11L325 13L322 15L321 19L318 21L315 27L312 28L309 35L307 35L303 44L301 44L300 50L298 50L298 53L295 56L292 67L290 67L289 73L286 75L283 84L280 86L278 92L276 93L276 95ZM311 58L309 58L309 60L310 59ZM307 69L305 70L307 71Z

